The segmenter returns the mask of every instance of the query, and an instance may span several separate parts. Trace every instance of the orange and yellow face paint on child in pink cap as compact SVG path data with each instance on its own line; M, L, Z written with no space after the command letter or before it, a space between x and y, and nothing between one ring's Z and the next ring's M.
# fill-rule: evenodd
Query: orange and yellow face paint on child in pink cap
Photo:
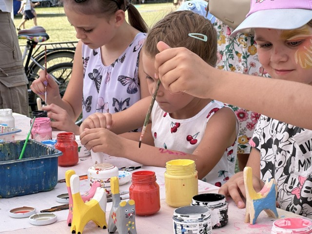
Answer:
M283 30L281 39L287 41L303 42L298 45L298 49L294 54L294 59L304 69L312 68L312 28L304 25L294 30Z

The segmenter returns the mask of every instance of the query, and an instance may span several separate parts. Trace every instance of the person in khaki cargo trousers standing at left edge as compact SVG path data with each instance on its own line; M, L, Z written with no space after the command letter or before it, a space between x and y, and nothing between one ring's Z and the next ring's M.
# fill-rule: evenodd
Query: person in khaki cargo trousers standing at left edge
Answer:
M28 115L28 79L11 18L13 0L0 1L0 109Z

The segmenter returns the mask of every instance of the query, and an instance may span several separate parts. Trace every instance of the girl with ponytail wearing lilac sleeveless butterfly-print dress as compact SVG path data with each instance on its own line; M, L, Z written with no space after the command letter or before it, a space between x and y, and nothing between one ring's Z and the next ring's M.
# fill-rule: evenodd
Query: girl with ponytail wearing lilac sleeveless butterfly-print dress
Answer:
M61 98L58 84L43 71L31 89L44 100L46 85L48 105L42 110L55 120L52 127L77 135L81 112L83 119L115 113L149 96L140 57L147 26L131 0L63 0L63 5L79 39L66 92Z

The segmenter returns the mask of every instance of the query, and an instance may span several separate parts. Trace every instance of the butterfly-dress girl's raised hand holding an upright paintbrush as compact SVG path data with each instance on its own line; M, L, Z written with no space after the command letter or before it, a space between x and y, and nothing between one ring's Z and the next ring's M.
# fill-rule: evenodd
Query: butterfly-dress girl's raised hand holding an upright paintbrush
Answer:
M53 100L55 97L59 97L59 85L49 74L45 76L44 71L39 72L39 78L35 79L30 88L39 95L42 100L45 100L45 86L47 86L47 100Z

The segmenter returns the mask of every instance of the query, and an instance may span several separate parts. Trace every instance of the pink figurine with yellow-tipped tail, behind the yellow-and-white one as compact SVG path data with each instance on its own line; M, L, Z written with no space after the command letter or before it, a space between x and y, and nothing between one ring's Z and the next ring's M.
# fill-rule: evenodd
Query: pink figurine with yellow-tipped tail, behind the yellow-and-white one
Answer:
M68 197L69 197L69 211L68 211L68 216L67 216L67 225L71 226L72 225L72 219L73 219L73 196L72 196L72 191L70 190L70 177L75 175L75 171L74 170L67 170L65 173L65 182L66 182L66 187L67 187L67 193L68 193ZM101 183L98 181L93 182L90 190L85 193L84 195L81 195L81 198L84 202L89 201L94 194L97 191L97 188L101 187Z

